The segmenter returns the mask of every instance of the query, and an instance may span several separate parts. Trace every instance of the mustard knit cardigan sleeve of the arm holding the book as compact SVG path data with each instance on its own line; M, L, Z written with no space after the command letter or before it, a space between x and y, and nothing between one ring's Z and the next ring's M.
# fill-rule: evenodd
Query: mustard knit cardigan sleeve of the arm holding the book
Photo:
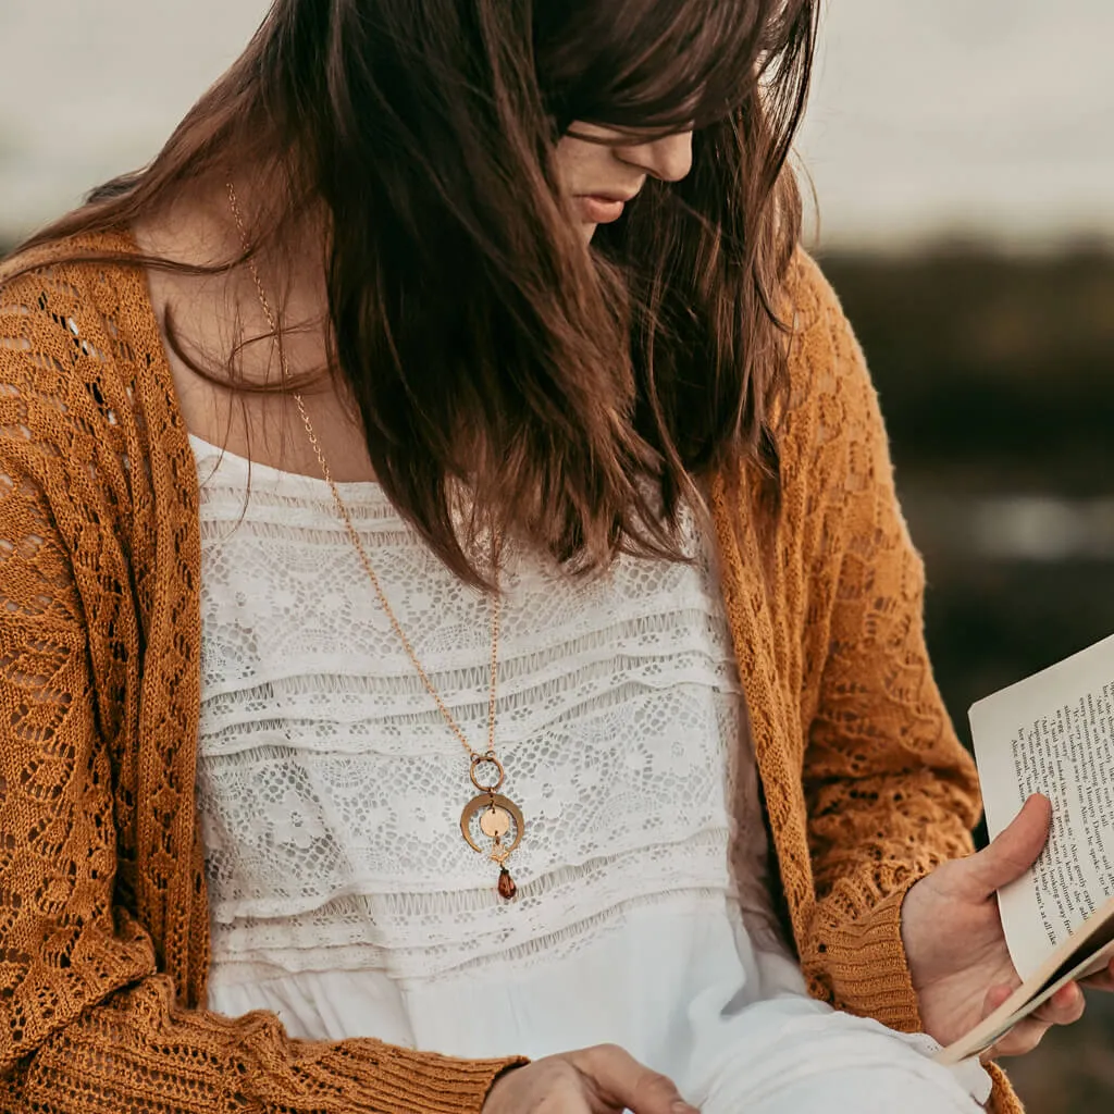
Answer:
M815 905L802 962L818 993L919 1028L906 892L970 853L979 797L932 678L925 574L895 494L862 351L799 262L785 516L803 620L803 791Z

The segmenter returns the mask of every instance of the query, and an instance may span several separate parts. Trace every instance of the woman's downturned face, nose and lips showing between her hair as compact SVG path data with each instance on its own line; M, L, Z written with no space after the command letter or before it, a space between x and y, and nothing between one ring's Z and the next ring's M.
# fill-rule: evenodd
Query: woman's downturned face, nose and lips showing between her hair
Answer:
M573 198L586 242L596 225L623 215L624 204L642 189L647 177L680 182L692 164L692 131L641 139L593 124L574 124L570 134L557 144L557 172Z

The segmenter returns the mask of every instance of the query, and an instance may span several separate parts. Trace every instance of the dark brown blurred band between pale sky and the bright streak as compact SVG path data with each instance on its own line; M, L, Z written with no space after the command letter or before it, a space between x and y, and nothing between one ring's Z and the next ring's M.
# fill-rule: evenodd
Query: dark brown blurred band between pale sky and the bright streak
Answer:
M869 356L899 469L967 491L1111 489L1114 256L823 266Z

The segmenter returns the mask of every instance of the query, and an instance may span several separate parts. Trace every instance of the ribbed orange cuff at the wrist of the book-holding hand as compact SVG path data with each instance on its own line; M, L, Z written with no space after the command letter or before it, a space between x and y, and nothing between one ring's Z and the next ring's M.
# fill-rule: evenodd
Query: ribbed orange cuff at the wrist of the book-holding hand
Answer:
M902 1033L920 1028L901 940L901 905L912 881L857 920L825 928L819 941L837 1004Z

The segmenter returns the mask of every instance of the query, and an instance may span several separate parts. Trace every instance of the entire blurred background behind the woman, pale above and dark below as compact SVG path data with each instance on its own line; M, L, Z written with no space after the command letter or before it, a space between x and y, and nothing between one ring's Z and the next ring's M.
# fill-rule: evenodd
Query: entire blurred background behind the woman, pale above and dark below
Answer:
M147 160L265 0L2 0L0 247ZM882 395L951 713L1114 633L1114 3L834 0L810 243ZM1114 996L1012 1075L1114 1101Z

